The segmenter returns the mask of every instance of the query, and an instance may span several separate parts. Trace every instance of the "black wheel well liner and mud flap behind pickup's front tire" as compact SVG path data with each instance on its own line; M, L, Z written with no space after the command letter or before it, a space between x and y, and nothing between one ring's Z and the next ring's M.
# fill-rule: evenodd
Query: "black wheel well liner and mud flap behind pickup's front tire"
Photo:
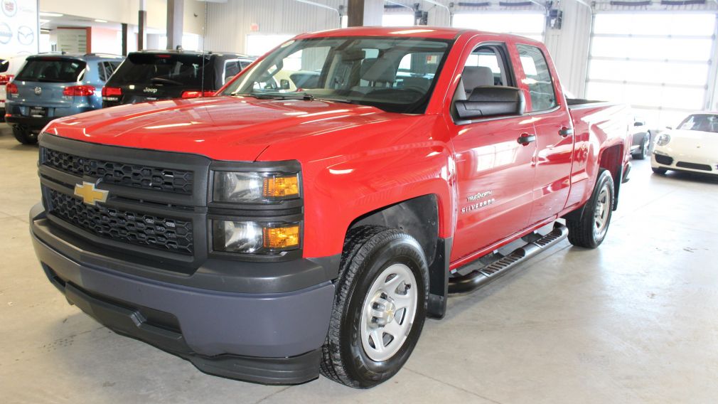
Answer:
M414 237L429 265L429 307L427 315L442 318L446 310L451 239L439 237L439 203L434 194L418 196L383 206L352 221L347 229L366 225L399 229Z

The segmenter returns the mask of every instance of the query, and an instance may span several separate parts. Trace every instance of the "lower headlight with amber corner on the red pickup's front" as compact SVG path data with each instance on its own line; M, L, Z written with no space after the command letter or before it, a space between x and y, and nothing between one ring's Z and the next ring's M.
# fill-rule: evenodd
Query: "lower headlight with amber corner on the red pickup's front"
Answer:
M299 223L260 224L254 221L213 220L213 249L262 254L299 248Z

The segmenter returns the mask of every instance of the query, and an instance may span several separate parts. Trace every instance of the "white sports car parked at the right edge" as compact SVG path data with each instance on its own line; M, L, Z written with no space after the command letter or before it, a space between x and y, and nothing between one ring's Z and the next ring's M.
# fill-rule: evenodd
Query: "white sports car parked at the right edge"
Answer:
M718 175L718 112L689 115L676 129L656 138L653 173L667 170Z

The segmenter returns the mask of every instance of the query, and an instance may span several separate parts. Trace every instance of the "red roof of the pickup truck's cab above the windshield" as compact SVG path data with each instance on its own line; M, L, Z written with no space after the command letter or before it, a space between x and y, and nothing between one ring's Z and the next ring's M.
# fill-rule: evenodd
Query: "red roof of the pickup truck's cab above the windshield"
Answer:
M478 31L477 29L467 28L447 28L447 27L352 27L342 29L330 29L320 32L308 32L306 34L297 35L297 38L321 38L321 37L416 37L416 38L433 38L437 40L452 40L463 33L501 35L505 37L517 37L526 40L526 37L510 34L498 34L496 32Z

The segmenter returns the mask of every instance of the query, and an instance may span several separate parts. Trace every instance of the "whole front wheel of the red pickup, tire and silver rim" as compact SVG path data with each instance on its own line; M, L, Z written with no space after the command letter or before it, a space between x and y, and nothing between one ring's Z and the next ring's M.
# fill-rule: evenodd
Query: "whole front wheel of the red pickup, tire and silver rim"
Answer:
M401 369L424 327L429 269L411 236L382 226L352 229L322 346L322 375L374 387Z

